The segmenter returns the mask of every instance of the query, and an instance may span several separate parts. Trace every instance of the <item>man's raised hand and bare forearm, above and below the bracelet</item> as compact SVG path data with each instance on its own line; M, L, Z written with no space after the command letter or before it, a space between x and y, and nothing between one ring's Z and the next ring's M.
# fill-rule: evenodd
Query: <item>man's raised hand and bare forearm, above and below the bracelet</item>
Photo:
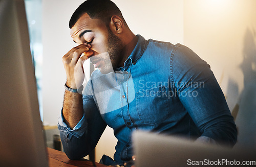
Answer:
M73 47L66 55L62 57L62 62L66 70L67 86L72 89L79 89L84 80L83 61L92 56L93 52L89 52L91 45L80 44ZM82 53L86 55L81 56ZM65 91L63 102L63 116L64 120L70 128L81 120L83 115L82 95Z

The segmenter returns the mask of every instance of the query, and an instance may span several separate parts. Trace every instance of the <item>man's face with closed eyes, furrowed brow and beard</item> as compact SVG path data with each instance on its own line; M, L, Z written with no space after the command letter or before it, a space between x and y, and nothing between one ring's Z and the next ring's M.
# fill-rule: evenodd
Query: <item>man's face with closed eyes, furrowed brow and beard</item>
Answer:
M100 19L92 19L85 13L71 29L71 37L78 44L90 43L94 52L90 58L102 74L115 69L121 60L122 42Z

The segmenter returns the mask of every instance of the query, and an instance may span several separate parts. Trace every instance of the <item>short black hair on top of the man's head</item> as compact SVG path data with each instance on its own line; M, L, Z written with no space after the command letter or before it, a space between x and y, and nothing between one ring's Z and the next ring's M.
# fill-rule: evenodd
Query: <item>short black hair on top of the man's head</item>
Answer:
M71 29L77 20L87 13L91 18L99 18L106 25L111 20L113 15L117 15L123 19L122 13L119 8L110 0L88 0L83 2L73 13L69 21L69 28ZM123 19L126 24L125 20Z

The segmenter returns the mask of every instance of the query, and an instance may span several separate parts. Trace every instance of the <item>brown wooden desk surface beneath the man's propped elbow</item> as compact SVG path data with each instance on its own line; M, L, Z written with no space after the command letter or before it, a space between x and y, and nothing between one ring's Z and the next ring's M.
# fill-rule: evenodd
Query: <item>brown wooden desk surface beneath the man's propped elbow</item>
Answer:
M70 160L67 155L61 151L47 148L49 167L63 166L63 167L111 167L97 162L92 162L87 159Z

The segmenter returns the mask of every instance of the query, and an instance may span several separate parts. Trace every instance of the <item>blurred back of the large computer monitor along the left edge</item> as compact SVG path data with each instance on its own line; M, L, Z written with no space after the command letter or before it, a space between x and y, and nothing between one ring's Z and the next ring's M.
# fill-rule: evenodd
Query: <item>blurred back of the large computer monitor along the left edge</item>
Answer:
M0 0L0 166L48 166L23 0Z

